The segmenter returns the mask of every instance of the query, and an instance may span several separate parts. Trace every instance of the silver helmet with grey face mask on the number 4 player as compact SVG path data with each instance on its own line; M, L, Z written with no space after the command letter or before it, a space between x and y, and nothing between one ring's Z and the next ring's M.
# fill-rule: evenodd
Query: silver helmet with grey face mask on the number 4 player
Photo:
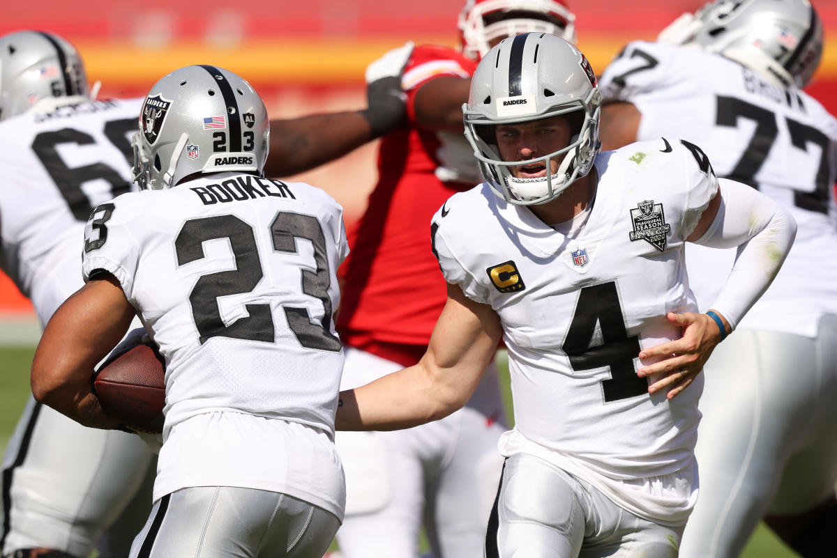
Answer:
M601 142L598 114L602 95L587 58L571 43L547 33L525 33L492 48L471 78L470 99L462 106L465 137L480 170L497 195L511 204L541 204L561 195L593 168ZM525 161L503 161L496 145L496 124L565 115L570 145ZM515 178L510 167L563 156L554 175Z

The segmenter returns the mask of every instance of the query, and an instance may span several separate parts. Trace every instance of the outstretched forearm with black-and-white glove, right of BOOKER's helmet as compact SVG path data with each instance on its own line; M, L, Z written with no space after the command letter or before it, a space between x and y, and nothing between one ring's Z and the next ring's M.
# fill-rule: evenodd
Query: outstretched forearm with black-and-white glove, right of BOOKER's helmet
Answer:
M394 48L367 67L367 108L270 121L268 176L287 176L324 165L403 124L401 74L413 43Z

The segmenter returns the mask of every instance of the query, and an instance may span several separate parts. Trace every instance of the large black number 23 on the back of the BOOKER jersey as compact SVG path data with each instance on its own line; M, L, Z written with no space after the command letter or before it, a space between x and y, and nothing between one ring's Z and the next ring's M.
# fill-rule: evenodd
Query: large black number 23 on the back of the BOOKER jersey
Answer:
M297 238L311 241L316 271L301 270L302 292L318 299L325 310L319 322L312 321L304 307L283 306L290 331L303 347L338 352L340 340L331 334L331 271L328 268L326 237L316 217L280 212L270 225L273 251L296 253ZM174 241L177 265L184 266L205 257L203 242L226 238L235 256L233 271L201 276L189 295L200 342L211 337L234 337L274 342L275 330L270 304L246 304L249 316L226 325L218 307L218 297L252 292L264 276L259 263L253 227L236 216L203 217L186 221Z

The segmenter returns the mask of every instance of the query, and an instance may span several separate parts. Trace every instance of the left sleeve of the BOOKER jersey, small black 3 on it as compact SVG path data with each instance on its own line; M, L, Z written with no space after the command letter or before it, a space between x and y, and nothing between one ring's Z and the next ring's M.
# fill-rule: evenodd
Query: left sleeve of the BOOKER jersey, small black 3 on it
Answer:
M133 301L134 277L140 259L140 243L129 228L130 214L125 198L95 207L85 225L85 247L81 271L85 282L98 270L108 271L120 283L125 297Z

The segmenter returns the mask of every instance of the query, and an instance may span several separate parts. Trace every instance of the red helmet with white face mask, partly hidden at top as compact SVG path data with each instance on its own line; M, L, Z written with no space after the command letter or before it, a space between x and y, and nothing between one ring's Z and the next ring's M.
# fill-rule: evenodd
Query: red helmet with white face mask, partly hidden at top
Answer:
M498 38L552 33L576 42L575 14L563 0L467 0L459 18L462 53L479 60Z

